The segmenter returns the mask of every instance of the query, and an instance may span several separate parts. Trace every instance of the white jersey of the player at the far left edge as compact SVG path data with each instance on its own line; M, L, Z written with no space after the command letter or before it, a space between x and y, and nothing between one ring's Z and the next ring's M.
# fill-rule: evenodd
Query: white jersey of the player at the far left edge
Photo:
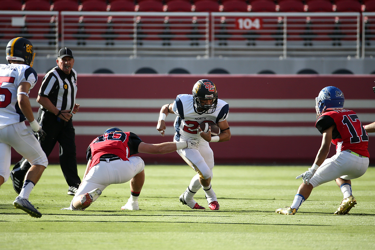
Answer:
M0 129L26 120L18 106L17 89L21 82L28 82L31 90L37 79L35 70L26 64L0 64Z

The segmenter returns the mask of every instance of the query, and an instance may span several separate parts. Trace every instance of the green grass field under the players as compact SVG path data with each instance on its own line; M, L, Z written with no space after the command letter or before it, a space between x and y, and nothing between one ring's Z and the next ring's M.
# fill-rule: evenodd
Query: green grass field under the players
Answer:
M9 180L0 189L0 249L375 249L375 168L352 181L358 204L350 215L333 213L342 200L334 182L313 190L295 216L276 214L289 206L307 166L216 166L212 180L219 211L181 205L194 171L188 166L146 166L138 211L120 211L129 183L111 185L86 211L64 211L59 166L49 165L30 196L43 214L32 218L13 208ZM78 168L83 176L85 166Z

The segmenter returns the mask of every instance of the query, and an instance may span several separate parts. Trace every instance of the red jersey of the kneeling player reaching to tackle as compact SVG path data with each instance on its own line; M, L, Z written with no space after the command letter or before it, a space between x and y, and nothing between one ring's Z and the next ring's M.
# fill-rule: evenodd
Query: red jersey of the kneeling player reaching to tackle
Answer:
M138 143L132 143L132 141L128 143L131 137L136 137L138 139ZM90 168L98 164L99 158L104 154L115 154L122 160L128 160L130 156L138 153L137 150L140 142L141 139L131 132L114 132L97 137L90 144L92 155ZM129 145L130 147L136 148L130 149Z

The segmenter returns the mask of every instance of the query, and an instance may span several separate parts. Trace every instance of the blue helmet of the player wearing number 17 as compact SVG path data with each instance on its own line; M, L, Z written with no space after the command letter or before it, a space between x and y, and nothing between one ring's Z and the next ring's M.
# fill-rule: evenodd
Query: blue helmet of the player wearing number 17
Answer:
M339 88L333 86L323 88L318 97L315 98L317 116L320 116L326 110L343 109L344 101L344 94Z

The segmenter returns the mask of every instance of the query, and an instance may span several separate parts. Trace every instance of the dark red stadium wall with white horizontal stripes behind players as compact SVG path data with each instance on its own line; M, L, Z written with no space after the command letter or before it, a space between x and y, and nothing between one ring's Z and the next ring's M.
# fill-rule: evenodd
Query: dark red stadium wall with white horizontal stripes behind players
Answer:
M38 84L31 90L31 98L36 98L42 77L39 75ZM326 86L344 92L345 107L356 111L363 124L375 121L374 77L370 75L81 74L77 82L77 103L81 106L73 116L78 162L86 162L87 146L112 126L135 132L147 143L172 141L170 117L175 115L169 114L168 133L160 136L156 130L160 107L173 102L177 94L191 93L193 84L202 78L213 81L219 98L229 103L231 140L211 143L217 164L311 164L321 143L321 135L314 127L314 99ZM37 105L33 110L37 111ZM375 155L372 138L371 156ZM334 150L332 146L331 155ZM138 155L146 163L183 163L175 152ZM12 150L12 161L19 159ZM58 163L58 147L49 162Z

